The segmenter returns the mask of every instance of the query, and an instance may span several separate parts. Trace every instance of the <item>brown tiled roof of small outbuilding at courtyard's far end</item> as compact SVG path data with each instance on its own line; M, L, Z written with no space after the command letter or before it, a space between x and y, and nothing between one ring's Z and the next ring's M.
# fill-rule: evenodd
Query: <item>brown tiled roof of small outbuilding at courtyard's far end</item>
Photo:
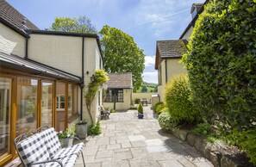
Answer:
M108 88L133 88L132 73L109 73Z

